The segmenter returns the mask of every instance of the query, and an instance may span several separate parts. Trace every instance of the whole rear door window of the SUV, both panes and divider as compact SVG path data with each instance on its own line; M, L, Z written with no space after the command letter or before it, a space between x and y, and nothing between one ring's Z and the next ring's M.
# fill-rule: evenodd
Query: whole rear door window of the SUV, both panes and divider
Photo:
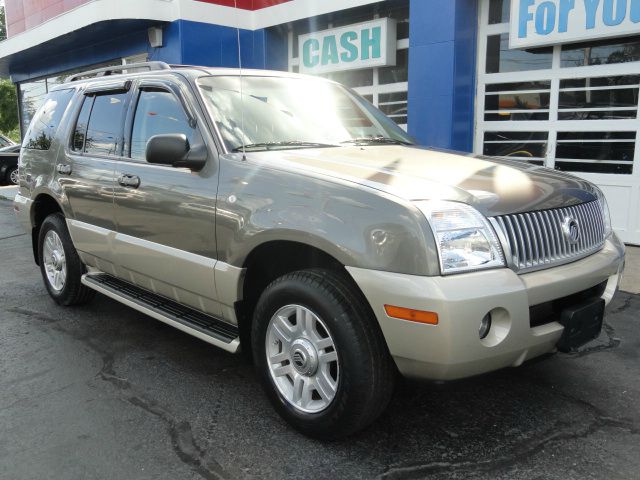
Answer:
M90 155L120 155L126 93L88 96L78 115L72 146Z

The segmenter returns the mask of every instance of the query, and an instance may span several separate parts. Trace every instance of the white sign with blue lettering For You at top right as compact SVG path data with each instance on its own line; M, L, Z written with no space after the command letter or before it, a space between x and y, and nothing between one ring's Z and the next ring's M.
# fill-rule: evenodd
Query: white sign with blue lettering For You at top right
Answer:
M511 0L511 48L640 34L640 0Z

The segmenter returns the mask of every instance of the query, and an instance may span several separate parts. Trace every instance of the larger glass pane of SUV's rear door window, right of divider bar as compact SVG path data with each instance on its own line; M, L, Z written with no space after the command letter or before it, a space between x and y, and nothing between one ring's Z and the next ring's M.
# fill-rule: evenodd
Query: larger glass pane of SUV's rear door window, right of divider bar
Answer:
M96 95L89 117L84 151L93 155L119 155L122 113L126 93Z

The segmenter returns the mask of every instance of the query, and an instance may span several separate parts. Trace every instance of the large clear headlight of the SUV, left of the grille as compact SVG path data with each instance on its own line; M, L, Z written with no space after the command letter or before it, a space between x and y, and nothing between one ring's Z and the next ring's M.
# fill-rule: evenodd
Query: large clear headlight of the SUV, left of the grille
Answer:
M443 275L505 266L500 241L489 221L464 203L416 202L438 244Z

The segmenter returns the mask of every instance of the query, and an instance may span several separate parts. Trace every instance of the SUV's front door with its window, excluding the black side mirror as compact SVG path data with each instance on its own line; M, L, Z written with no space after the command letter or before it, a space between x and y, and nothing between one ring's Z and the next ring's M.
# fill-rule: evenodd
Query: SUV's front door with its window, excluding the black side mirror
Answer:
M127 153L115 172L117 269L127 281L220 315L214 284L218 171L213 152L200 171L145 159L154 135L184 134L191 146L203 144L186 88L171 80L142 81L136 88L126 126Z

